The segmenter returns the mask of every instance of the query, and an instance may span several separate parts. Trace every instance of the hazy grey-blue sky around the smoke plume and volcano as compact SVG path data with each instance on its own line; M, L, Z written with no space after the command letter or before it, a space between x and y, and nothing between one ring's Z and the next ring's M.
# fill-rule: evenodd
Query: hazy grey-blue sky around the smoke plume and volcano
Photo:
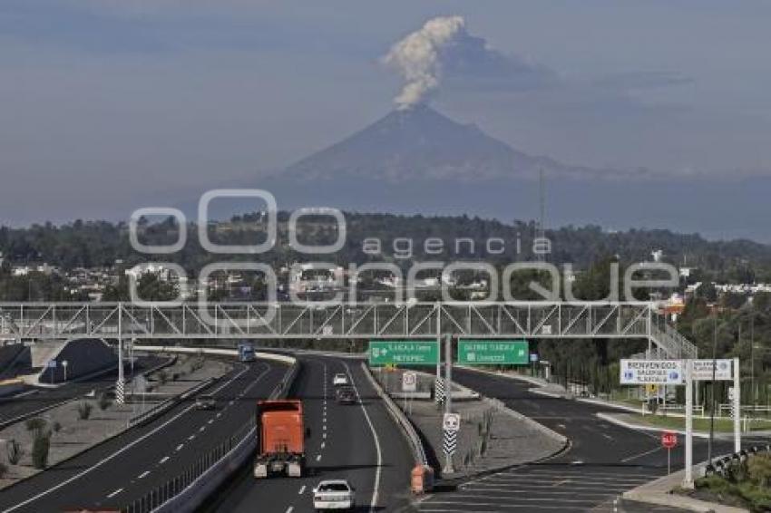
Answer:
M519 150L771 175L763 0L3 0L0 223L127 217L298 160L393 108L382 58L438 15L549 78L471 66L434 98Z

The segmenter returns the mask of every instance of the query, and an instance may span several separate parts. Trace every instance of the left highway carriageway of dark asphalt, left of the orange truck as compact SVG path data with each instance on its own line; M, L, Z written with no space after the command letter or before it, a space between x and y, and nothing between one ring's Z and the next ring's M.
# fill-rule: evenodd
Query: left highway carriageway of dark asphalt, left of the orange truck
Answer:
M257 400L267 398L287 370L272 362L238 363L203 391L214 395L214 411L195 410L194 398L181 402L154 421L3 490L0 510L125 507L244 426Z

